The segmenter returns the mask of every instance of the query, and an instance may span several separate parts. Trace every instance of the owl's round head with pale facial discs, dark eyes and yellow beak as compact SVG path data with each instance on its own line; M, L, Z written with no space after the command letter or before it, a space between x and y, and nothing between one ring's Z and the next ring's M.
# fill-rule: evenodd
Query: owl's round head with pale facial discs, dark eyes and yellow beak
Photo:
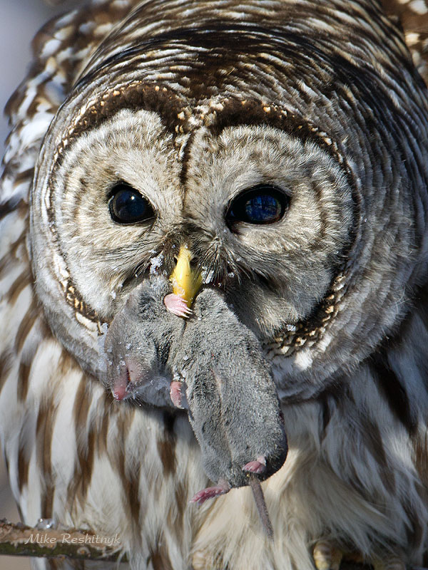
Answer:
M166 40L104 50L58 111L32 190L36 290L56 336L102 380L106 326L185 252L188 303L223 291L280 396L311 398L393 330L417 281L409 196L422 173L404 177L402 158L412 125L389 95L374 113L387 90L350 84L337 54L304 65L289 46L273 66L274 43L244 58L238 42L236 60L211 46L201 66L197 38L167 68Z

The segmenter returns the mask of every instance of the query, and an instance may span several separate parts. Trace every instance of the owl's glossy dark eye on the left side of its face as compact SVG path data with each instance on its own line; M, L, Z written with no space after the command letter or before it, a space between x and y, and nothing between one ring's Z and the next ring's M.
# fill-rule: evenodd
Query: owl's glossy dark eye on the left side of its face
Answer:
M108 202L110 215L119 224L134 224L153 218L154 212L148 199L141 196L125 182L113 188L113 195Z

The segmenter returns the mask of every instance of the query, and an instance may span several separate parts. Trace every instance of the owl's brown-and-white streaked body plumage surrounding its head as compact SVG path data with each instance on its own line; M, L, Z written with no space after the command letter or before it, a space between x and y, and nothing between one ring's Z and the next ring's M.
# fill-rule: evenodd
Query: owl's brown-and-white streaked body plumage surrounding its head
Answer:
M141 14L136 13L126 29L131 40L118 36L116 43L96 51L138 4L149 14L151 33L157 24L150 18L159 17L160 10L167 22L182 19L188 24L200 21L205 10L225 15L235 10L232 17L240 18L246 4L251 19L251 6L266 18L278 6L266 1L255 7L255 0L93 0L51 21L34 40L34 65L7 106L12 130L1 182L1 441L22 519L35 524L40 517L54 517L66 526L119 534L136 569L184 570L193 559L195 569L228 564L234 570L305 570L312 568L310 545L321 537L368 558L392 549L404 553L408 563L422 564L428 547L426 250L419 257L421 277L412 277L412 291L397 301L394 322L385 325L387 333L370 358L366 353L360 364L336 373L335 383L313 397L297 394L293 401L292 385L282 387L290 451L282 470L264 484L275 536L280 537L273 544L259 532L246 488L195 512L188 501L206 481L188 421L161 410L141 413L115 405L47 326L29 261L34 166L49 123L88 61L94 68L118 46L125 49L127 41L131 46L134 34L144 35ZM359 19L357 35L367 31L373 40L377 34L374 53L379 68L388 68L394 40L385 36L376 1L335 0L316 9L312 4L317 3L282 2L297 6L313 26L317 16L330 11L331 19L324 21L327 36L340 36L348 19ZM414 62L426 78L425 2L383 4L389 16L401 19ZM158 25L158 33L168 25L164 30ZM403 52L402 46L397 50ZM404 52L400 57L408 65ZM387 73L384 79L399 98L399 86ZM421 86L415 98L419 110L426 110ZM409 138L415 138L414 125L409 131ZM419 142L424 143L416 140L415 155ZM427 197L417 199L423 225ZM376 274L371 279L377 287Z

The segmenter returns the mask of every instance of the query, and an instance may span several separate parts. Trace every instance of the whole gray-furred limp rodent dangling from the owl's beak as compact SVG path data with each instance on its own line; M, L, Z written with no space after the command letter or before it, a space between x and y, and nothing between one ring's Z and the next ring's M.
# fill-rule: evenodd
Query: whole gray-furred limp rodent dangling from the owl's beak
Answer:
M153 378L155 383L166 378L165 393L168 383L180 378L205 473L225 486L223 492L251 484L263 519L259 480L280 469L287 439L260 342L221 291L200 291L185 320L166 309L163 299L170 290L164 276L151 276L130 294L106 335L106 384L124 399L136 397ZM258 457L265 458L263 472L245 472ZM271 534L270 523L264 525Z

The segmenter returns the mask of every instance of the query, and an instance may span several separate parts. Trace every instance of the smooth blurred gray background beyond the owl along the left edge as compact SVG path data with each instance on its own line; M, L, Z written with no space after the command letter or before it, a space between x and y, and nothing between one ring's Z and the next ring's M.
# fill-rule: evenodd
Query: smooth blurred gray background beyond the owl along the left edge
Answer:
M36 31L49 19L70 9L76 1L0 0L0 147L9 126L3 109L10 95L21 83L31 58L30 43ZM19 521L14 499L7 482L4 457L0 454L0 519ZM0 570L29 570L29 559L0 556Z

